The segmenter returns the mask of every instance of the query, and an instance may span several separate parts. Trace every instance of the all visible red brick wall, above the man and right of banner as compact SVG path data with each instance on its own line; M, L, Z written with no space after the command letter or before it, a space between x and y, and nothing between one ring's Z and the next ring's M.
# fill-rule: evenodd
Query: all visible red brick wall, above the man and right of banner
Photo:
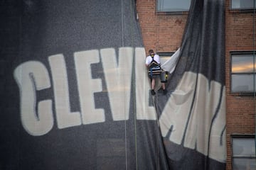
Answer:
M156 0L137 0L137 12L146 52L151 48L156 52L175 52L181 45L188 15L156 14L155 6ZM230 11L230 1L225 1L227 170L232 168L230 135L255 133L255 98L230 94L230 51L253 50L252 21L252 12Z

